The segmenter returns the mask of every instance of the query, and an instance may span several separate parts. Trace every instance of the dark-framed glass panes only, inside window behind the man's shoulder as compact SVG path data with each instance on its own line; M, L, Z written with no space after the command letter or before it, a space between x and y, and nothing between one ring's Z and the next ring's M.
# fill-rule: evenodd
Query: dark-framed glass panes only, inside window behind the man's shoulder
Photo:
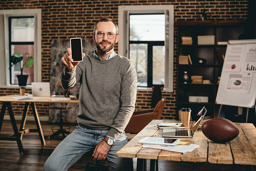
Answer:
M137 71L138 87L164 86L165 15L129 15L129 59Z

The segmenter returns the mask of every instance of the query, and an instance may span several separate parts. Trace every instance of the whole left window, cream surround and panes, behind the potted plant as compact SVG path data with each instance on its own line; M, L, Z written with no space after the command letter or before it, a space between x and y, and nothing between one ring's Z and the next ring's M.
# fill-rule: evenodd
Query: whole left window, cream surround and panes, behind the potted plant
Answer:
M29 75L27 84L41 82L41 9L0 10L0 86L18 86L20 64L10 67L10 57L21 52L24 59L34 57L34 65L23 69Z

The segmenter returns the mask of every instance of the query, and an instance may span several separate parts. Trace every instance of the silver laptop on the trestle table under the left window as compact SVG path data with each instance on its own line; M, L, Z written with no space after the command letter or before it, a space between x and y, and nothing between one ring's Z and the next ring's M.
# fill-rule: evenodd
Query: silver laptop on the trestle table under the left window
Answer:
M50 83L32 82L32 96L51 96Z

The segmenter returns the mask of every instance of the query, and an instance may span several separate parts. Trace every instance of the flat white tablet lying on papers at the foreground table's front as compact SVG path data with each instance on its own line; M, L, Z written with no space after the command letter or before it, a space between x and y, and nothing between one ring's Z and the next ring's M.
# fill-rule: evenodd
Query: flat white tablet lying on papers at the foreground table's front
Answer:
M169 139L162 137L144 137L139 143L141 144L159 144L159 145L176 145L180 139Z

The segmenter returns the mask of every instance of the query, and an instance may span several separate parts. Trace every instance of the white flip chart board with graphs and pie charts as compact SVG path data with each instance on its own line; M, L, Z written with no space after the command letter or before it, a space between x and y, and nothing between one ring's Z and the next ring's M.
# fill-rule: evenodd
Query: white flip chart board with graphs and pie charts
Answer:
M253 108L256 99L256 39L229 40L216 104Z

